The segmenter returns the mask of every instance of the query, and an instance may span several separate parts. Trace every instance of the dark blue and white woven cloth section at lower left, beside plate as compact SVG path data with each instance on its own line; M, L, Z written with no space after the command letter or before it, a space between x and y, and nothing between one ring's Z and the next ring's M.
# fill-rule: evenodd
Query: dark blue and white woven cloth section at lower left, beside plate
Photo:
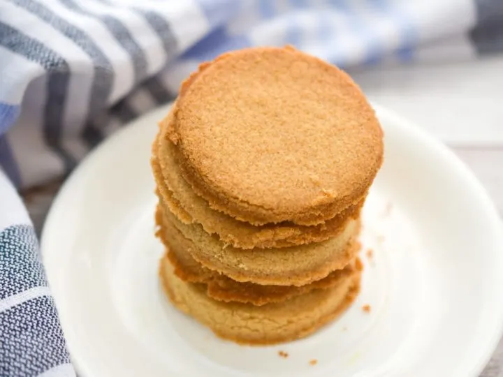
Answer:
M34 227L0 170L0 376L38 375L75 374Z

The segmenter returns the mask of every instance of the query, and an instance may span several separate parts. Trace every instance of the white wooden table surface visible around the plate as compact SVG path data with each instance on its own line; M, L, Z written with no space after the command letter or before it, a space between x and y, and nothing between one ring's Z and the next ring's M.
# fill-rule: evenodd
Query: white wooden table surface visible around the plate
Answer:
M370 100L451 147L479 177L503 216L502 73L503 57L350 72ZM38 230L58 187L54 182L24 195ZM503 377L503 341L481 376Z

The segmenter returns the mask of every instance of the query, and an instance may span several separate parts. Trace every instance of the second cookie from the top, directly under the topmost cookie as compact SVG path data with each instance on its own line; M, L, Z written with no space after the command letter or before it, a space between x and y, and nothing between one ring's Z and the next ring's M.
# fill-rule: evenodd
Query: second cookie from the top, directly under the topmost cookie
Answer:
M349 216L359 216L364 199L317 226L294 223L253 226L215 211L194 193L181 176L180 168L173 158L175 146L166 138L166 132L173 127L171 119L170 112L160 124L159 135L152 146L152 170L163 202L184 223L200 223L206 232L216 234L225 244L240 249L279 248L325 241L341 232Z

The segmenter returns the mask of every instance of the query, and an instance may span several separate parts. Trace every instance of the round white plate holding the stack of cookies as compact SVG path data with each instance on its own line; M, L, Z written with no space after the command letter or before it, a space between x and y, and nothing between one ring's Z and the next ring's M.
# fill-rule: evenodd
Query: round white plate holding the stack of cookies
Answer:
M245 347L214 337L159 289L149 160L167 110L97 148L45 224L45 267L83 376L479 374L502 334L503 236L488 195L448 149L378 108L386 156L363 214L358 300L312 337Z

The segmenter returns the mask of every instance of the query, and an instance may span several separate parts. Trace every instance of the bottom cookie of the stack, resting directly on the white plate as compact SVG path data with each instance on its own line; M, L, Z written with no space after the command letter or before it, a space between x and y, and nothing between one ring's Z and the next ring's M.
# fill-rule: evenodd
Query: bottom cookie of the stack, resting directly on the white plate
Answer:
M170 301L180 311L210 327L221 338L255 345L307 337L339 316L353 302L360 286L360 272L353 269L352 274L331 288L255 306L213 300L206 295L203 284L179 279L167 258L161 260L160 277Z

